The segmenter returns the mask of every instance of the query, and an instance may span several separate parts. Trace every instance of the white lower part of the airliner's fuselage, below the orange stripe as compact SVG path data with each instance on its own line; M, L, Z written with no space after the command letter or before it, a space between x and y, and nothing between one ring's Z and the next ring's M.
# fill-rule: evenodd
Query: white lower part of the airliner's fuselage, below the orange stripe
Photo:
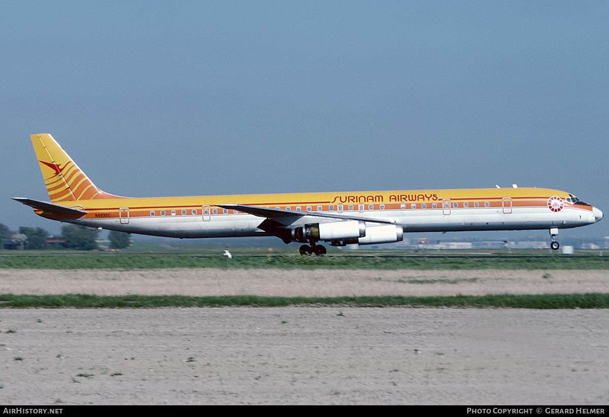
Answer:
M405 233L564 229L589 225L599 220L599 217L595 217L594 211L586 209L564 208L560 213L554 213L543 207L355 210L343 211L343 214L394 220L396 225L403 227ZM596 214L596 216L599 215ZM600 217L602 217L602 213ZM70 222L128 233L181 238L266 236L269 233L258 228L262 220L264 219L252 214L231 211L227 214L220 212L206 216L202 214L182 215L178 212L166 216L159 216L156 213L156 216L124 216L110 219L71 220ZM336 222L336 220L320 220L319 217L303 216L290 223L290 226L324 222Z

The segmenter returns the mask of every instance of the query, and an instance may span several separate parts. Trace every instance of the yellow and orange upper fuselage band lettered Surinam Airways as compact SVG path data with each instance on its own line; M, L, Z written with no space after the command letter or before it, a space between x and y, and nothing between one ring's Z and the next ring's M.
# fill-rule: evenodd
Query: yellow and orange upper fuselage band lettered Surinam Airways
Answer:
M463 203L468 202L470 208L478 202L481 208L484 203L490 203L491 207L501 207L505 199L511 199L510 206L546 206L547 199L552 196L563 198L569 194L563 191L543 188L488 188L488 189L437 189L437 190L414 190L414 191L366 191L366 192L318 192L318 193L293 193L293 194L242 194L242 195L199 195L191 197L144 197L144 198L106 198L101 200L79 200L79 201L57 201L56 204L67 207L78 206L88 211L86 219L99 218L101 213L104 217L119 217L119 209L128 208L130 217L149 216L150 211L176 210L177 215L185 209L186 214L191 215L193 209L197 214L202 214L202 206L214 208L220 204L241 204L250 206L263 206L269 208L292 209L307 211L339 211L342 205L343 211L357 211L359 205L364 205L364 211L373 210L400 210L443 208L446 200L458 203L462 208ZM565 203L568 205L568 203ZM353 206L349 208L349 206ZM382 207L381 207L382 205ZM332 207L330 207L332 206ZM588 206L578 206L582 209L590 209ZM232 212L232 211L230 211ZM219 208L218 214L223 209ZM158 216L158 213L155 213ZM168 213L169 214L169 213ZM211 214L211 213L210 213ZM97 215L97 216L96 216Z

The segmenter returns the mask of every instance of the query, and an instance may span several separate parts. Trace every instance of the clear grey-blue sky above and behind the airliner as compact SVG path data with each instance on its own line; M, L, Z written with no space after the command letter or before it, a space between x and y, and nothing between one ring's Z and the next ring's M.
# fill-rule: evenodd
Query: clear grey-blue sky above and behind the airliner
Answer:
M604 1L2 2L0 223L60 229L9 199L48 200L32 133L133 197L516 183L609 211L608 20Z

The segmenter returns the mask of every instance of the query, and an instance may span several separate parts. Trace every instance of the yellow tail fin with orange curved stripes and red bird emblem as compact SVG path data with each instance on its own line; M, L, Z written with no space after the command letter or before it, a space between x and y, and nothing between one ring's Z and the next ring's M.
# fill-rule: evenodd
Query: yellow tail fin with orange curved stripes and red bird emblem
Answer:
M120 198L101 191L48 133L30 135L51 201Z

